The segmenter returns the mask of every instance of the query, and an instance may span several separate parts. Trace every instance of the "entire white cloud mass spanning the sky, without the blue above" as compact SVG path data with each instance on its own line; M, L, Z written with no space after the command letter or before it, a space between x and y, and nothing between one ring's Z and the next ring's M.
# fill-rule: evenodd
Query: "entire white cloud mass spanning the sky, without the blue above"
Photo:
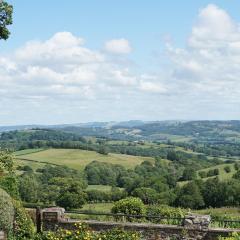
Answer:
M53 122L239 118L239 26L223 9L206 6L187 46L167 43L170 64L151 73L129 64L126 39L106 42L105 51L69 32L28 42L0 56L0 118L9 119L8 106L25 122L52 112Z

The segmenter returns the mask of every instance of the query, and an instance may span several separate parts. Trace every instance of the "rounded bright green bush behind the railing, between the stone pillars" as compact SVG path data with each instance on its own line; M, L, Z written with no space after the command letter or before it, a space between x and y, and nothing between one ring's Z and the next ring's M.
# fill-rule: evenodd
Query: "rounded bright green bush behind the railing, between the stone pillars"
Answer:
M111 211L115 214L144 215L146 207L141 199L128 197L116 202ZM131 222L136 218L127 217L126 219Z

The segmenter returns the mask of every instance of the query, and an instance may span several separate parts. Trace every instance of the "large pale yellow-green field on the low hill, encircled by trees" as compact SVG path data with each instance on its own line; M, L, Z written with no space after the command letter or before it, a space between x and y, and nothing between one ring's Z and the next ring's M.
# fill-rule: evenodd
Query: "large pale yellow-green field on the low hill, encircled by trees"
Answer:
M92 161L107 162L112 164L119 164L126 168L134 168L143 161L154 161L150 157L138 157L125 154L102 155L94 151L85 151L79 149L47 149L38 152L28 152L26 154L15 153L18 162L25 162L25 165L31 165L35 168L35 162L28 162L26 160L40 161L42 164L59 164L65 165L73 169L82 170L86 165ZM25 160L24 160L25 159ZM38 163L37 163L38 164Z

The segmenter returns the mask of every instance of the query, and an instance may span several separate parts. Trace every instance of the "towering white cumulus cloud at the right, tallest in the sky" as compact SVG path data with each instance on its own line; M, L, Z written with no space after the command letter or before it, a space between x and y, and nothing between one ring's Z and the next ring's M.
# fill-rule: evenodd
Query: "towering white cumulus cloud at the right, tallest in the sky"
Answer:
M239 47L239 24L216 5L201 9L187 48L167 45L176 90L215 105L240 102Z

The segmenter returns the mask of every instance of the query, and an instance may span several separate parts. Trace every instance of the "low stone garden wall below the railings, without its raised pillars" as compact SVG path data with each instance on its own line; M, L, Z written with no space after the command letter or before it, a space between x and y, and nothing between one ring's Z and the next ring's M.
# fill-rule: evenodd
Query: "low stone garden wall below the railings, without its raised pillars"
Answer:
M55 231L59 228L73 230L75 223L79 221L60 221L60 222L43 222L43 230ZM121 228L140 232L146 240L217 240L219 236L228 236L230 233L240 230L232 229L207 229L199 230L186 228L183 226L160 225L160 224L142 224L142 223L117 223L117 222L99 222L84 221L94 231L104 231L113 228Z

